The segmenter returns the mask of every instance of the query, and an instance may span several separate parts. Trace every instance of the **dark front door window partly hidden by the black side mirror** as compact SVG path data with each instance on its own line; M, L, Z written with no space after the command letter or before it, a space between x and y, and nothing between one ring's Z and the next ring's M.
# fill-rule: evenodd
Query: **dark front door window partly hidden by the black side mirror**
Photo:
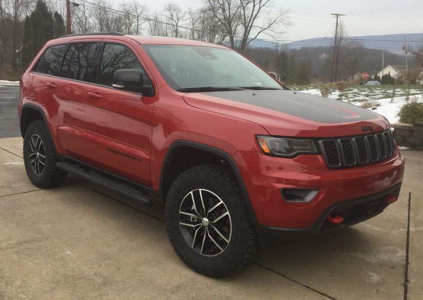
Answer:
M135 54L129 48L123 45L106 44L100 62L97 83L112 86L113 73L123 69L140 70L145 79L144 85L151 85L145 82L147 76L145 75L144 69L141 67Z

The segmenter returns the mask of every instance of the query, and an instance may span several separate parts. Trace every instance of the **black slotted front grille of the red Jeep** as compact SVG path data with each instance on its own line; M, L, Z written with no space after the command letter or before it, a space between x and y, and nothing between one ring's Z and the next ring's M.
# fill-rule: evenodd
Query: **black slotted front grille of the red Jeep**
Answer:
M330 168L369 165L386 160L395 153L390 130L352 137L321 139L318 144Z

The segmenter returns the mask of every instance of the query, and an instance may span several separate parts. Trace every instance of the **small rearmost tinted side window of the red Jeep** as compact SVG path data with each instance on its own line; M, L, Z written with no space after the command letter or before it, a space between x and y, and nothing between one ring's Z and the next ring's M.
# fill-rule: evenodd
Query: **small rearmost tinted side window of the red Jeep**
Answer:
M34 72L59 76L60 66L68 45L57 45L47 49L36 64Z

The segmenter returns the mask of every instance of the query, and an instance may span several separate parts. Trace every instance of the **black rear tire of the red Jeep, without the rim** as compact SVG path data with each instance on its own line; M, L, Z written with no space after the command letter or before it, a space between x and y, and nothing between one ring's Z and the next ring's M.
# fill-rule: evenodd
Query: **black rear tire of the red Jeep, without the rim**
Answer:
M31 146L30 139L36 134L41 138L45 153L45 166L40 175L37 175L30 165ZM49 188L63 183L66 179L67 172L56 169L57 153L53 145L50 132L42 120L36 120L29 124L23 137L23 162L29 179L36 186L41 188Z

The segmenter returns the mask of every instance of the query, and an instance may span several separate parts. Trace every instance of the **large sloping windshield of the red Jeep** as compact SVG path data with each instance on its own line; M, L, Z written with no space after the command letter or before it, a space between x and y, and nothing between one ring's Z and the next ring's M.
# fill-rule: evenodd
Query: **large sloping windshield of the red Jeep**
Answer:
M229 49L143 45L166 82L177 91L283 89L266 72Z

